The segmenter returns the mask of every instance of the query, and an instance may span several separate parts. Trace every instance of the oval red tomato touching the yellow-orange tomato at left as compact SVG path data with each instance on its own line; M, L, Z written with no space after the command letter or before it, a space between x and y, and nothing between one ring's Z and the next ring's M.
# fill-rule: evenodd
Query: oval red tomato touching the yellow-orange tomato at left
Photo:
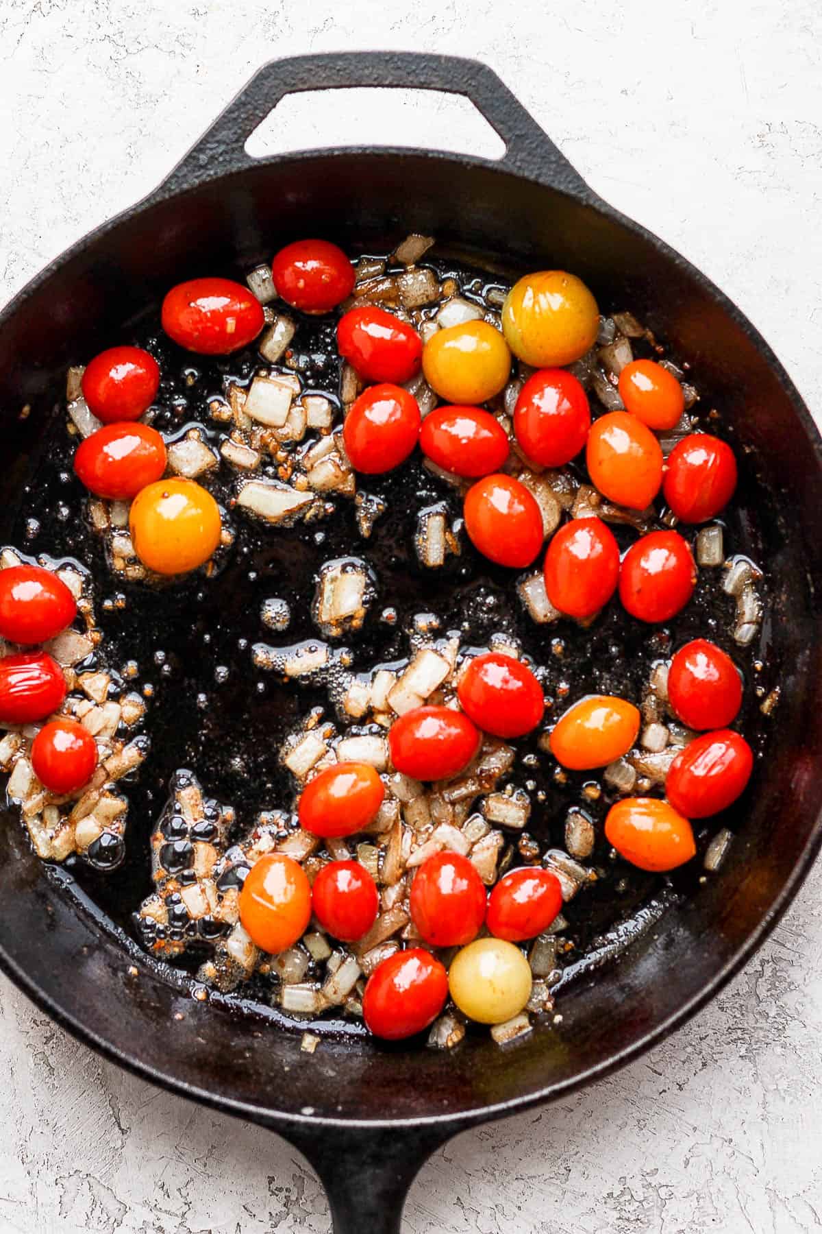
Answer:
M165 471L165 442L149 424L104 424L78 445L74 470L97 497L127 501Z

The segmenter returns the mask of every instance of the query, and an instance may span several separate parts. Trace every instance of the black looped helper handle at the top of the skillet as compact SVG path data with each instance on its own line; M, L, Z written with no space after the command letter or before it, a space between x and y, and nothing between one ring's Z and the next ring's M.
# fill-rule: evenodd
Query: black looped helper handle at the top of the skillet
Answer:
M493 69L458 56L419 52L339 52L296 56L264 64L160 186L166 196L218 175L253 167L245 142L288 94L350 86L441 90L467 97L505 142L500 167L595 199L579 173L553 144ZM488 160L492 163L494 160Z

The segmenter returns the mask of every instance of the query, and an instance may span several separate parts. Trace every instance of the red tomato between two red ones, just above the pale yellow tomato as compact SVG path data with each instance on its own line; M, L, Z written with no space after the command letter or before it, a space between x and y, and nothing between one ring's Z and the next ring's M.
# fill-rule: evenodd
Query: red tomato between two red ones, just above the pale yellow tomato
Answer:
M462 946L486 919L486 888L467 856L435 853L412 882L409 907L420 937L431 946Z

